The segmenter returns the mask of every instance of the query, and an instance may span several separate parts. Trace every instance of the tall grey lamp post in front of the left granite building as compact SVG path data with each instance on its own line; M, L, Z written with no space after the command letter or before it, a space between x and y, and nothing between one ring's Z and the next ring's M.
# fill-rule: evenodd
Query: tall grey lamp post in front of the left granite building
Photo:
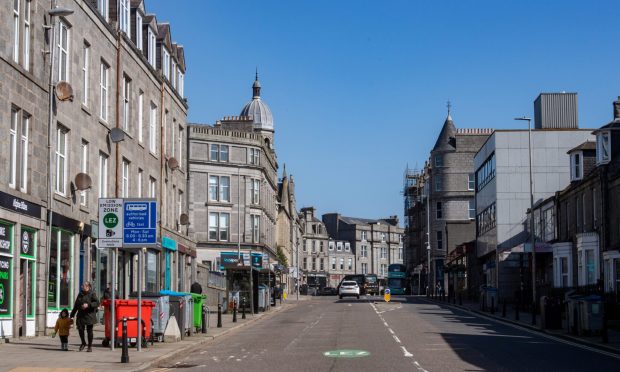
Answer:
M45 231L45 245L46 245L46 254L47 254L47 262L46 262L46 272L45 276L45 288L49 290L49 277L50 277L50 256L51 256L51 248L52 248L52 195L54 194L54 173L53 173L53 151L52 151L52 126L54 125L54 51L56 50L56 46L54 45L56 39L56 17L66 17L70 14L73 14L73 9L62 8L62 7L54 7L49 9L46 12L50 16L50 38L49 38L49 55L50 55L50 63L49 63L49 80L48 80L48 122L47 122L47 151L48 151L48 160L47 160L47 173L48 173L48 187L47 187L47 230ZM47 313L46 313L47 314ZM47 317L47 315L46 315Z

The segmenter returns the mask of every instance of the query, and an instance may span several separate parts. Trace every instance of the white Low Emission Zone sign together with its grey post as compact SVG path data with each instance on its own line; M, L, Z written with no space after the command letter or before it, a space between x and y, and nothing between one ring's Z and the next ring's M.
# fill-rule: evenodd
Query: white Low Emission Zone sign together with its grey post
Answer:
M110 307L110 349L114 350L116 338L116 248L123 246L123 199L99 199L98 246L112 248L112 304Z

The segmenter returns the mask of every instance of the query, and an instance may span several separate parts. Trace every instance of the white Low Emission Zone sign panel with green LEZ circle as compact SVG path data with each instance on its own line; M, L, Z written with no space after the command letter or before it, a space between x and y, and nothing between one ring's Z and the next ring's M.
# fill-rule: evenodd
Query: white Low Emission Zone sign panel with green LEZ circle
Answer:
M99 199L100 248L123 246L123 199Z

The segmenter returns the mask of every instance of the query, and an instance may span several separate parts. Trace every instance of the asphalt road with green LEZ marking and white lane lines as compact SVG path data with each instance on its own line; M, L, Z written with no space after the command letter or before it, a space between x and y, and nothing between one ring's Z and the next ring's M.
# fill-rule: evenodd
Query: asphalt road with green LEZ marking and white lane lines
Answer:
M316 297L158 371L615 371L620 357L429 303ZM376 300L376 301L373 301ZM326 355L327 353L327 355Z

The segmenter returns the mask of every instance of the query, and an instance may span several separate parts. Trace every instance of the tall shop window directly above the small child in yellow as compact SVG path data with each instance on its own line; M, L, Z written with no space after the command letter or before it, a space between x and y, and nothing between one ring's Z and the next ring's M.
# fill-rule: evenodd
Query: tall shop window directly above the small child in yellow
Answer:
M52 230L47 294L49 308L60 309L71 305L72 248L73 236L71 233L57 229Z

